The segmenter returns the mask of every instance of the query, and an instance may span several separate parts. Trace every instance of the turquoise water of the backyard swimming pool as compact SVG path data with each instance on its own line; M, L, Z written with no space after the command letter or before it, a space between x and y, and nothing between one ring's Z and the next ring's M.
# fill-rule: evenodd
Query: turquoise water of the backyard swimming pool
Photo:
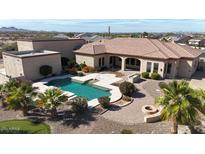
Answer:
M48 82L48 86L55 86L63 91L70 91L77 96L84 96L89 101L102 96L110 96L109 90L102 90L99 88L92 87L89 84L81 84L73 82L70 79L60 79Z

